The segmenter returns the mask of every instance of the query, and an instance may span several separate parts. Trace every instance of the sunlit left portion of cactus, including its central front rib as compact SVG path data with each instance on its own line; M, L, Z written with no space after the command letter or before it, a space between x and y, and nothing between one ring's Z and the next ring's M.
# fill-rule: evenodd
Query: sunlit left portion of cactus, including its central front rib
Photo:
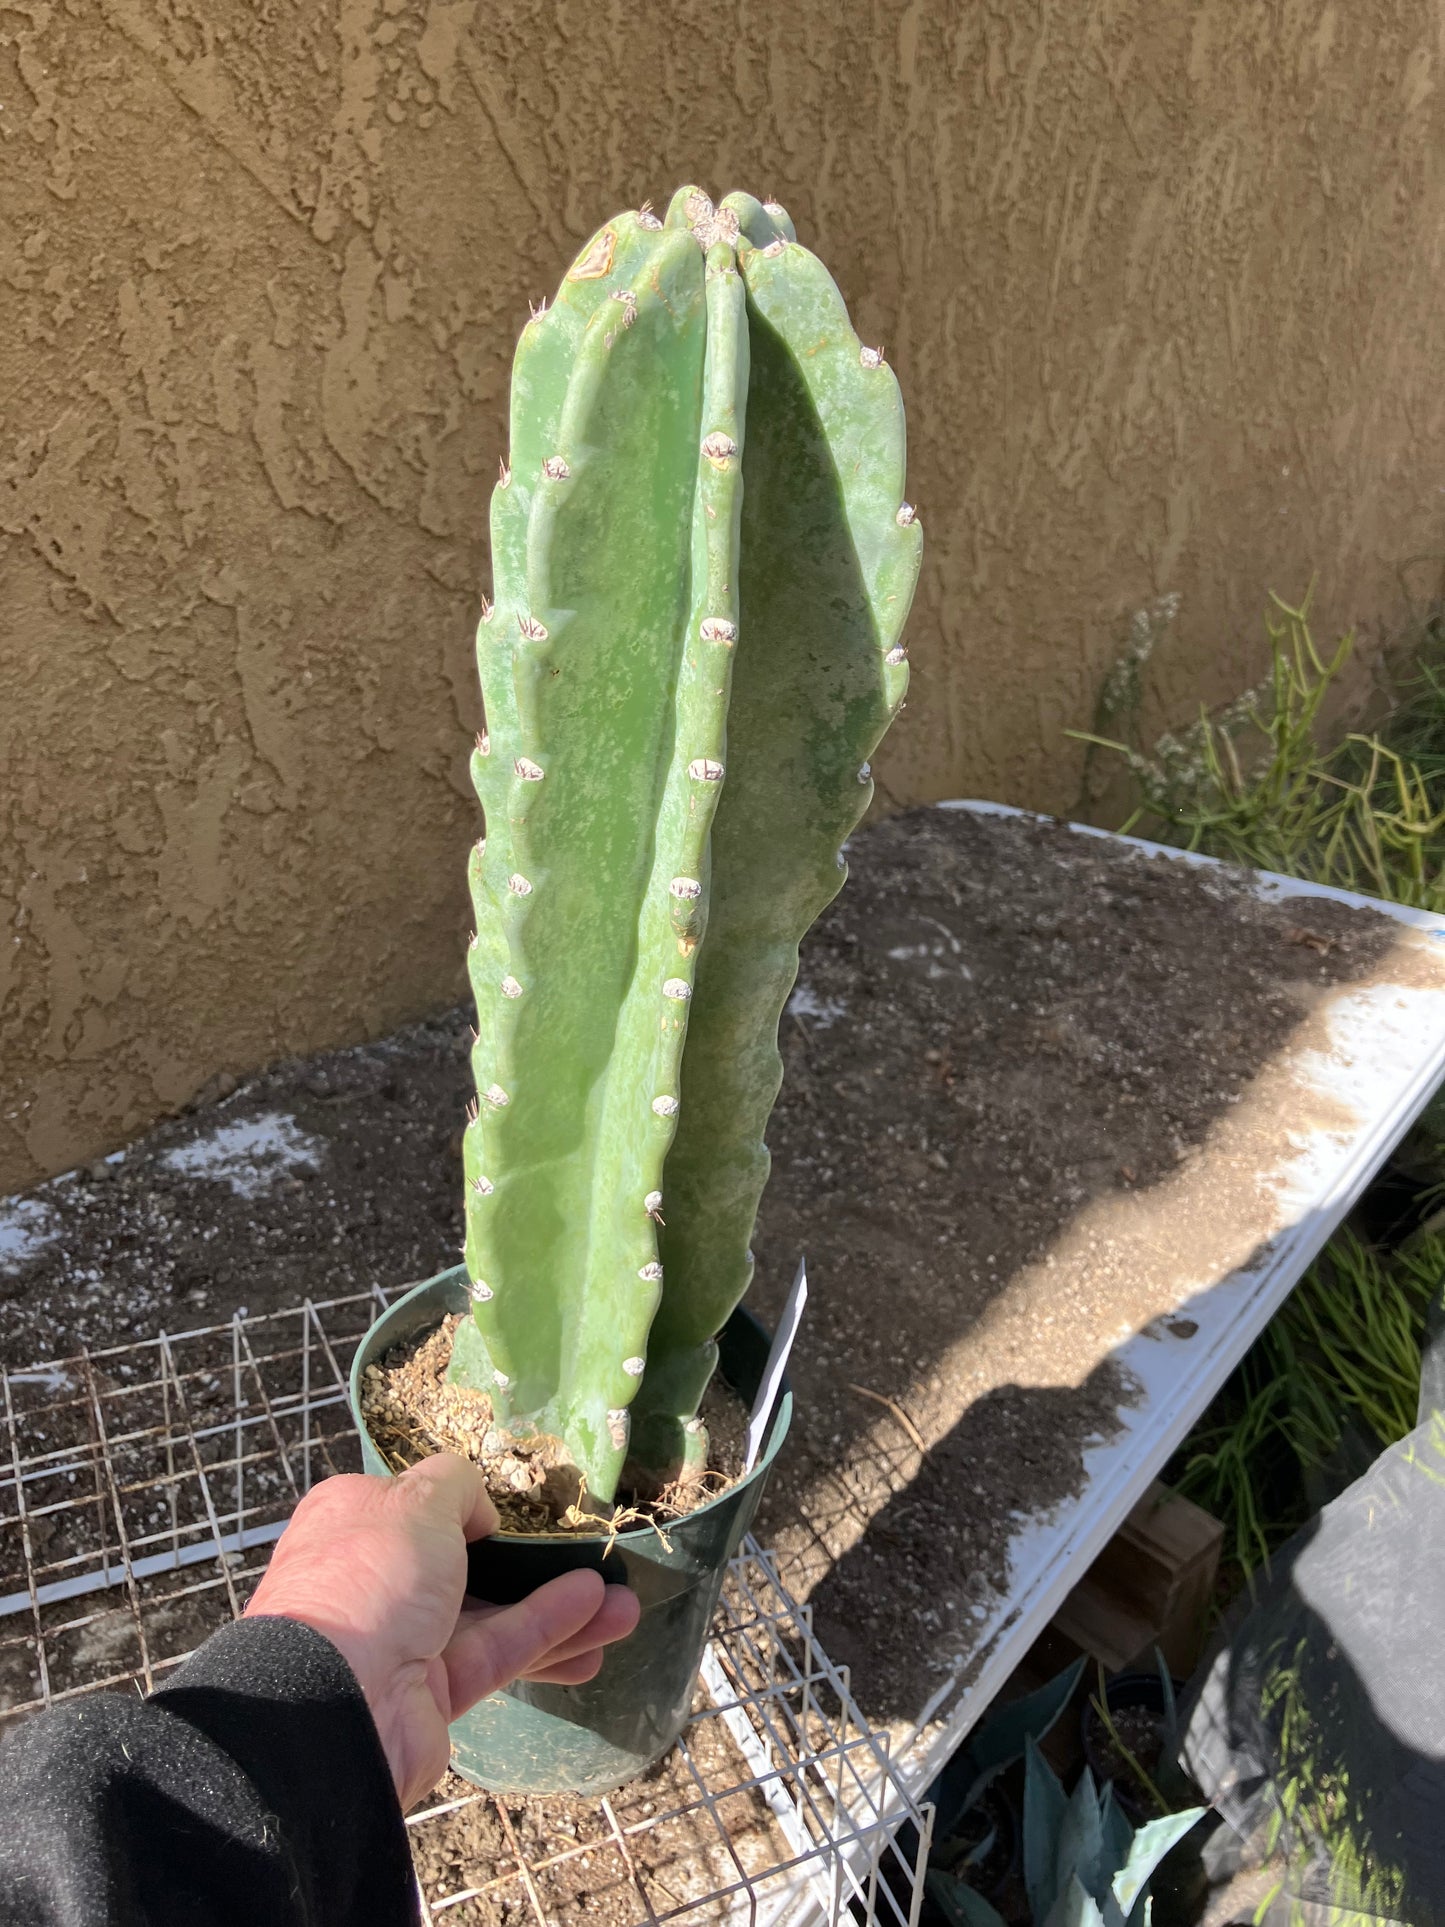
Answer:
M493 937L472 952L487 1021L464 1139L480 1339L453 1359L505 1422L561 1434L601 1499L659 1295L644 1201L676 1108L655 1098L678 1087L703 917L670 884L705 883L717 807L732 651L701 624L736 634L748 349L730 249L705 272L688 235L609 231L582 256L593 299L568 279L518 355L493 509L491 750L476 761L505 832L474 863ZM628 538L634 567L601 567Z

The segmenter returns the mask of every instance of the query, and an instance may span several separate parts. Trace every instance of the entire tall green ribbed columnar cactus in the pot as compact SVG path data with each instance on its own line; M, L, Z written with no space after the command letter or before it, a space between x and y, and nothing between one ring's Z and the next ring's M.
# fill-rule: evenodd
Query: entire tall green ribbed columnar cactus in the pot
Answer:
M593 1503L705 1465L778 1019L907 688L921 545L898 382L776 204L620 214L522 331L451 1372Z

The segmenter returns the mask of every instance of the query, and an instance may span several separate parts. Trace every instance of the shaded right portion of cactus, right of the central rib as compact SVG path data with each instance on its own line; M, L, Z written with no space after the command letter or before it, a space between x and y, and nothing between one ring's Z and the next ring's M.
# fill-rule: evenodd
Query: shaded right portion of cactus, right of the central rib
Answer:
M840 846L873 796L867 757L907 688L900 634L921 559L917 520L900 520L898 382L863 353L827 268L788 239L786 214L765 220L780 249L753 247L748 229L765 229L740 210L751 341L746 646L665 1172L663 1303L636 1414L659 1459L682 1451L717 1364L715 1333L751 1280L763 1131L782 1079L778 1019L800 938L842 886Z

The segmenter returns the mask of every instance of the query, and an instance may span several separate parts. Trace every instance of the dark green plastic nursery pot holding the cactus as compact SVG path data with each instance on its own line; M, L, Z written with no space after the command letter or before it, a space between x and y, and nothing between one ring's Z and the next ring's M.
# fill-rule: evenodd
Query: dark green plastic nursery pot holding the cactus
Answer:
M368 1472L391 1476L362 1422L362 1372L393 1345L466 1310L466 1270L457 1266L397 1299L356 1347L351 1411ZM719 1335L719 1353L722 1378L751 1405L767 1362L767 1332L738 1308ZM466 1590L476 1599L511 1605L559 1572L591 1567L638 1594L642 1619L636 1632L607 1648L601 1673L586 1686L518 1680L453 1721L457 1773L499 1794L605 1794L661 1759L688 1721L728 1559L753 1520L790 1418L784 1380L748 1478L670 1520L667 1536L651 1526L611 1540L497 1532L470 1547Z

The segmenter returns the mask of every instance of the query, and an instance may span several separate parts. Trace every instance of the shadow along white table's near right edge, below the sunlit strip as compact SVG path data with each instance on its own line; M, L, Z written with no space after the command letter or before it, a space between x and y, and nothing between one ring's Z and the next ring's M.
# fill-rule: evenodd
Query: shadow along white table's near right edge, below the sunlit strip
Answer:
M1306 1212L1241 1276L1129 1333L1083 1384L990 1387L925 1455L898 1453L896 1490L854 1518L852 1544L809 1592L823 1648L852 1669L871 1721L952 1713L950 1688L971 1684L1000 1640L1023 1657L1333 1226L1333 1210ZM807 1484L819 1540L846 1522L817 1503L840 1474L807 1443L792 1476ZM1000 1509L1006 1491L1019 1503ZM1445 1559L1445 1513L1441 1547Z

